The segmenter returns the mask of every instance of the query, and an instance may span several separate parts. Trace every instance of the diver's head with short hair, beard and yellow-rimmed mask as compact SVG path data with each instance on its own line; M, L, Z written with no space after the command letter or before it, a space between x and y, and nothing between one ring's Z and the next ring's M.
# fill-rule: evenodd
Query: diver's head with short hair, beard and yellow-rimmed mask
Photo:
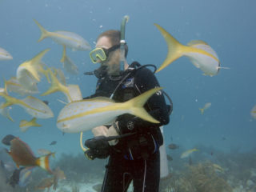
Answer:
M117 75L120 71L120 39L119 30L106 30L97 38L96 48L90 52L92 62L101 63L107 66L107 74ZM128 53L128 46L125 45L125 57Z

